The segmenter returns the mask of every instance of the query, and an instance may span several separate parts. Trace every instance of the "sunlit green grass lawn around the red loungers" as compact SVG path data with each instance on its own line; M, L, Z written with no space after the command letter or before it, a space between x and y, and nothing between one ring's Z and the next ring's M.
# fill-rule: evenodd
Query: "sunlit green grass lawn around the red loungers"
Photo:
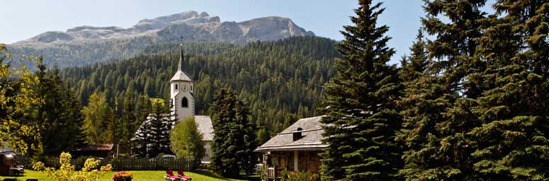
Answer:
M18 180L26 180L28 178L38 178L40 181L53 181L46 177L45 174L39 173L33 170L25 170L25 176L23 177L0 177L0 180L4 180L4 178L17 178ZM164 174L165 171L131 171L133 173L133 180L132 181L149 181L149 180L164 180ZM101 181L108 181L111 180L111 177L113 176L115 172L108 172L106 173L102 178ZM207 170L196 170L196 171L189 171L185 172L185 175L188 175L193 178L193 181L201 181L201 180L212 180L212 181L238 181L237 179L228 179L224 177L220 177L219 175L216 175L215 173ZM259 180L259 177L250 177L246 180Z

